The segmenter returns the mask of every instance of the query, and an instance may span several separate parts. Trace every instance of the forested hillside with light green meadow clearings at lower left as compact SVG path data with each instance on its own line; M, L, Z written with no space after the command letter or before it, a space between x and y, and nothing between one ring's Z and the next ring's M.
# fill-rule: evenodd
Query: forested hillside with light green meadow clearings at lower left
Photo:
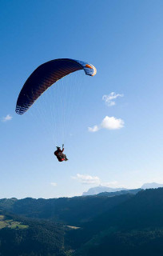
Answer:
M66 227L54 222L1 212L0 255L64 256L65 231Z

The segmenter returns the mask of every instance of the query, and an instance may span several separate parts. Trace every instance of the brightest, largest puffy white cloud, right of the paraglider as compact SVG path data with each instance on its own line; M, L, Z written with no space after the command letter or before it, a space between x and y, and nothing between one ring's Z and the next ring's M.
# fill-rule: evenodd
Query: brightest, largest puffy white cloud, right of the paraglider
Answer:
M89 127L88 130L90 132L96 132L100 129L117 130L123 128L124 124L125 122L121 118L114 118L106 115L99 126Z

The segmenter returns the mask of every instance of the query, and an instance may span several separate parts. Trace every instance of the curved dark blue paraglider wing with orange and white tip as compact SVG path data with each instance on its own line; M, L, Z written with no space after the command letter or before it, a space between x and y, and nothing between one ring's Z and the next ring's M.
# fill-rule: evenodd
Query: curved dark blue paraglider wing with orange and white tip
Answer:
M22 87L16 113L24 114L54 82L77 70L85 70L85 74L90 76L96 74L96 68L93 65L70 58L58 58L38 66Z

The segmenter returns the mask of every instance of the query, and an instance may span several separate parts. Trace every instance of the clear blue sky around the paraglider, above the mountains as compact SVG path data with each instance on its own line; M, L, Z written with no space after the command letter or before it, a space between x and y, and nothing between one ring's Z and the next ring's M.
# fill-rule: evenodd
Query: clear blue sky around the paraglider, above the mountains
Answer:
M163 183L162 24L159 0L0 2L0 198L55 198L98 185ZM90 62L97 75L64 78L19 116L15 104L26 78L55 58ZM54 137L62 125L51 129L60 110L47 120L48 105L53 110L59 86L64 97L63 86L72 81L81 91L72 96L74 90L66 90L71 112L62 110L70 160L60 163ZM108 106L102 97L112 92L123 97ZM119 129L110 130L113 122Z

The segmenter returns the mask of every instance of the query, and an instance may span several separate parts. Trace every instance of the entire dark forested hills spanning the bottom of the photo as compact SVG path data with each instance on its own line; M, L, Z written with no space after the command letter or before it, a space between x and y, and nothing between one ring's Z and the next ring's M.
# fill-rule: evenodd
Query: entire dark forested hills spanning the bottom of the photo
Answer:
M1 199L0 255L163 255L163 188Z

